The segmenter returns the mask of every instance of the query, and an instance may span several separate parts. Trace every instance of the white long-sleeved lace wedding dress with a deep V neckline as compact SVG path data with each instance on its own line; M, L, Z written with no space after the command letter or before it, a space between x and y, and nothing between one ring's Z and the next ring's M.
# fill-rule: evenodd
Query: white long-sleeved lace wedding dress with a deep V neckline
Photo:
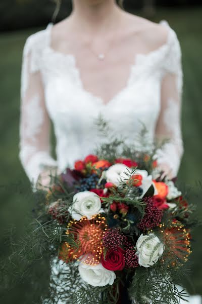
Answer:
M171 176L176 176L183 153L181 50L176 33L167 22L161 23L168 29L166 43L134 56L127 85L108 103L84 88L74 55L51 47L52 24L28 37L22 66L19 157L33 190L44 166L57 166L62 172L92 153L99 140L94 126L99 114L128 143L134 142L142 123L148 142L156 135L169 137L158 151L158 163L167 164ZM50 119L57 138L57 160L50 154ZM200 297L191 296L189 302L199 304Z

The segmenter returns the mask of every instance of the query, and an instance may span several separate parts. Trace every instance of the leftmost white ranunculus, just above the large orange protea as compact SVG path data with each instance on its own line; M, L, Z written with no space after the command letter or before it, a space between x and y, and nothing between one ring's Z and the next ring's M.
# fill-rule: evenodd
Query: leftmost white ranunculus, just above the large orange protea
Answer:
M80 220L82 216L90 219L92 215L104 212L101 207L102 204L98 195L91 191L83 191L74 195L73 204L68 211L76 220Z

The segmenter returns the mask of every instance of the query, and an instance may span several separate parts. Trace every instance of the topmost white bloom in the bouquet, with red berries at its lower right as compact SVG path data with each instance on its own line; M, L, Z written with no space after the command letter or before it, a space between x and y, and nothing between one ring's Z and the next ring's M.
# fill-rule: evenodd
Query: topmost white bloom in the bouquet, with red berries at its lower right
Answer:
M130 174L131 168L124 164L114 164L106 171L106 179L107 182L112 182L116 186L119 186L121 180L128 179L128 175Z

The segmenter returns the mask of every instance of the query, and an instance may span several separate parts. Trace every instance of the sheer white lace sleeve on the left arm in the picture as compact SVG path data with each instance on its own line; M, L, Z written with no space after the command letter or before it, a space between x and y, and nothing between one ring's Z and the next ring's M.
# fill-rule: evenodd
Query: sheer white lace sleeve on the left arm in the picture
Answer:
M19 143L19 158L34 188L46 166L57 166L50 155L50 124L40 74L41 44L35 38L28 38L23 51Z

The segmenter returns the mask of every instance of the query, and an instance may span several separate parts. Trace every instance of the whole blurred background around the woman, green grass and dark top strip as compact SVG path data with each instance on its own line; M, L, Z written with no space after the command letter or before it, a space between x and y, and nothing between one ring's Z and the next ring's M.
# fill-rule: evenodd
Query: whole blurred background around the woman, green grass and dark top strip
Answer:
M5 231L11 224L17 227L17 238L23 235L28 214L34 205L29 181L18 159L20 117L20 71L22 49L26 38L44 28L51 21L55 3L51 0L1 0L0 4L0 92L1 92L1 218L0 258L8 255ZM178 181L191 186L192 200L198 205L197 215L202 218L202 6L198 1L136 1L126 0L125 9L159 22L166 19L176 31L182 48L184 73L182 131L185 153ZM71 1L64 0L57 21L71 12ZM55 137L52 132L53 154ZM193 234L190 293L202 294L201 227ZM37 268L37 267L36 267ZM0 274L1 275L1 274ZM36 278L43 281L40 270ZM43 284L41 286L43 286ZM10 286L12 287L12 286ZM0 297L4 304L33 303L33 282L19 282L11 292ZM36 303L36 302L35 302ZM39 304L39 301L37 302Z

